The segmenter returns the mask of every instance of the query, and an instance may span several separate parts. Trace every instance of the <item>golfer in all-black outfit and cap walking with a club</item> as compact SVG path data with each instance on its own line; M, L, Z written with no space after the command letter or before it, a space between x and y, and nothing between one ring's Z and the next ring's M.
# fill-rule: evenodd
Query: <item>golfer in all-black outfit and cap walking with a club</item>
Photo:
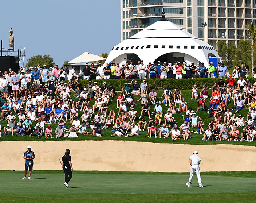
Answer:
M68 182L72 178L72 171L73 171L71 156L69 155L69 153L70 153L70 150L66 149L65 155L62 157L62 162L61 162L62 170L65 173L64 185L66 186L66 188L69 188Z

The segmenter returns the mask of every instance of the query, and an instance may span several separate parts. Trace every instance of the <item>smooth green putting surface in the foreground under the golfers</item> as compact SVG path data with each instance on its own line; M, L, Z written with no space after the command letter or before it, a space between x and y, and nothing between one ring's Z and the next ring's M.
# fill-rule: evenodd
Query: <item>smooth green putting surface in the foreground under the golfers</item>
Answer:
M22 171L1 171L0 195L1 202L27 202L28 197L36 202L60 202L63 198L74 202L169 202L170 199L182 202L191 196L194 200L204 198L203 202L219 202L218 198L227 197L225 202L254 201L256 178L219 176L218 173L222 172L202 173L204 188L198 187L195 175L188 188L185 183L189 173L78 171L69 183L71 188L66 189L61 171L36 171L32 173L32 180L22 180ZM255 171L246 171L245 176L250 177L250 173ZM231 195L233 193L235 195Z

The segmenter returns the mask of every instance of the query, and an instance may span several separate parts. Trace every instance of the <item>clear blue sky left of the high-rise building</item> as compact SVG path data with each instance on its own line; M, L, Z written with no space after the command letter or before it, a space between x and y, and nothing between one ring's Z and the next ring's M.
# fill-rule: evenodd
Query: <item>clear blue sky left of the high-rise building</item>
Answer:
M0 40L15 50L26 47L26 59L50 55L62 66L84 51L109 53L120 42L119 0L0 0Z

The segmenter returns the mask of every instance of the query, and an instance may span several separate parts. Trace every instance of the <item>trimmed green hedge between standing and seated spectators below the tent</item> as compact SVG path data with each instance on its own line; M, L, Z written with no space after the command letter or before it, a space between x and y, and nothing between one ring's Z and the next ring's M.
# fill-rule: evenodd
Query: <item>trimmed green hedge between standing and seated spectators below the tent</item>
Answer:
M138 84L141 84L142 80L143 79L137 79ZM131 79L92 80L92 83L94 83L95 81L97 81L99 87L103 85L103 82L106 82L107 86L112 83L117 91L121 91L122 87L124 87L124 83L131 82ZM191 89L194 84L196 84L198 88L202 88L204 84L206 85L206 87L212 87L214 82L219 81L219 78L146 79L146 82L150 88L166 89L167 87L169 87L170 89L175 89L176 87L179 87L181 90ZM250 78L250 82L253 84L254 82L256 82L256 78ZM80 80L80 84L81 86L87 85L88 80Z

